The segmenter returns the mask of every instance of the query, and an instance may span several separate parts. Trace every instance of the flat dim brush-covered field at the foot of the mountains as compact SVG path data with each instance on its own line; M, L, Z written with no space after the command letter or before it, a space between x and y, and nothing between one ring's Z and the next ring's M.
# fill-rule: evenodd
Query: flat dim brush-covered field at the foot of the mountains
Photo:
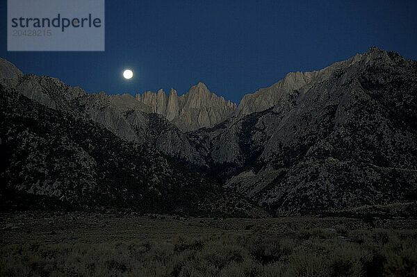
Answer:
M414 217L0 214L1 276L417 276Z

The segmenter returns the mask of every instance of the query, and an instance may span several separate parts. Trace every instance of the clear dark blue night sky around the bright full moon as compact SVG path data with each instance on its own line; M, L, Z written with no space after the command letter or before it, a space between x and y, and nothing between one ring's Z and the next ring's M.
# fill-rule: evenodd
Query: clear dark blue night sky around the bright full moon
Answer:
M416 10L417 1L106 0L106 51L8 52L1 0L0 56L87 92L183 94L202 81L238 103L288 72L321 69L373 45L417 60ZM135 72L131 81L125 67Z

